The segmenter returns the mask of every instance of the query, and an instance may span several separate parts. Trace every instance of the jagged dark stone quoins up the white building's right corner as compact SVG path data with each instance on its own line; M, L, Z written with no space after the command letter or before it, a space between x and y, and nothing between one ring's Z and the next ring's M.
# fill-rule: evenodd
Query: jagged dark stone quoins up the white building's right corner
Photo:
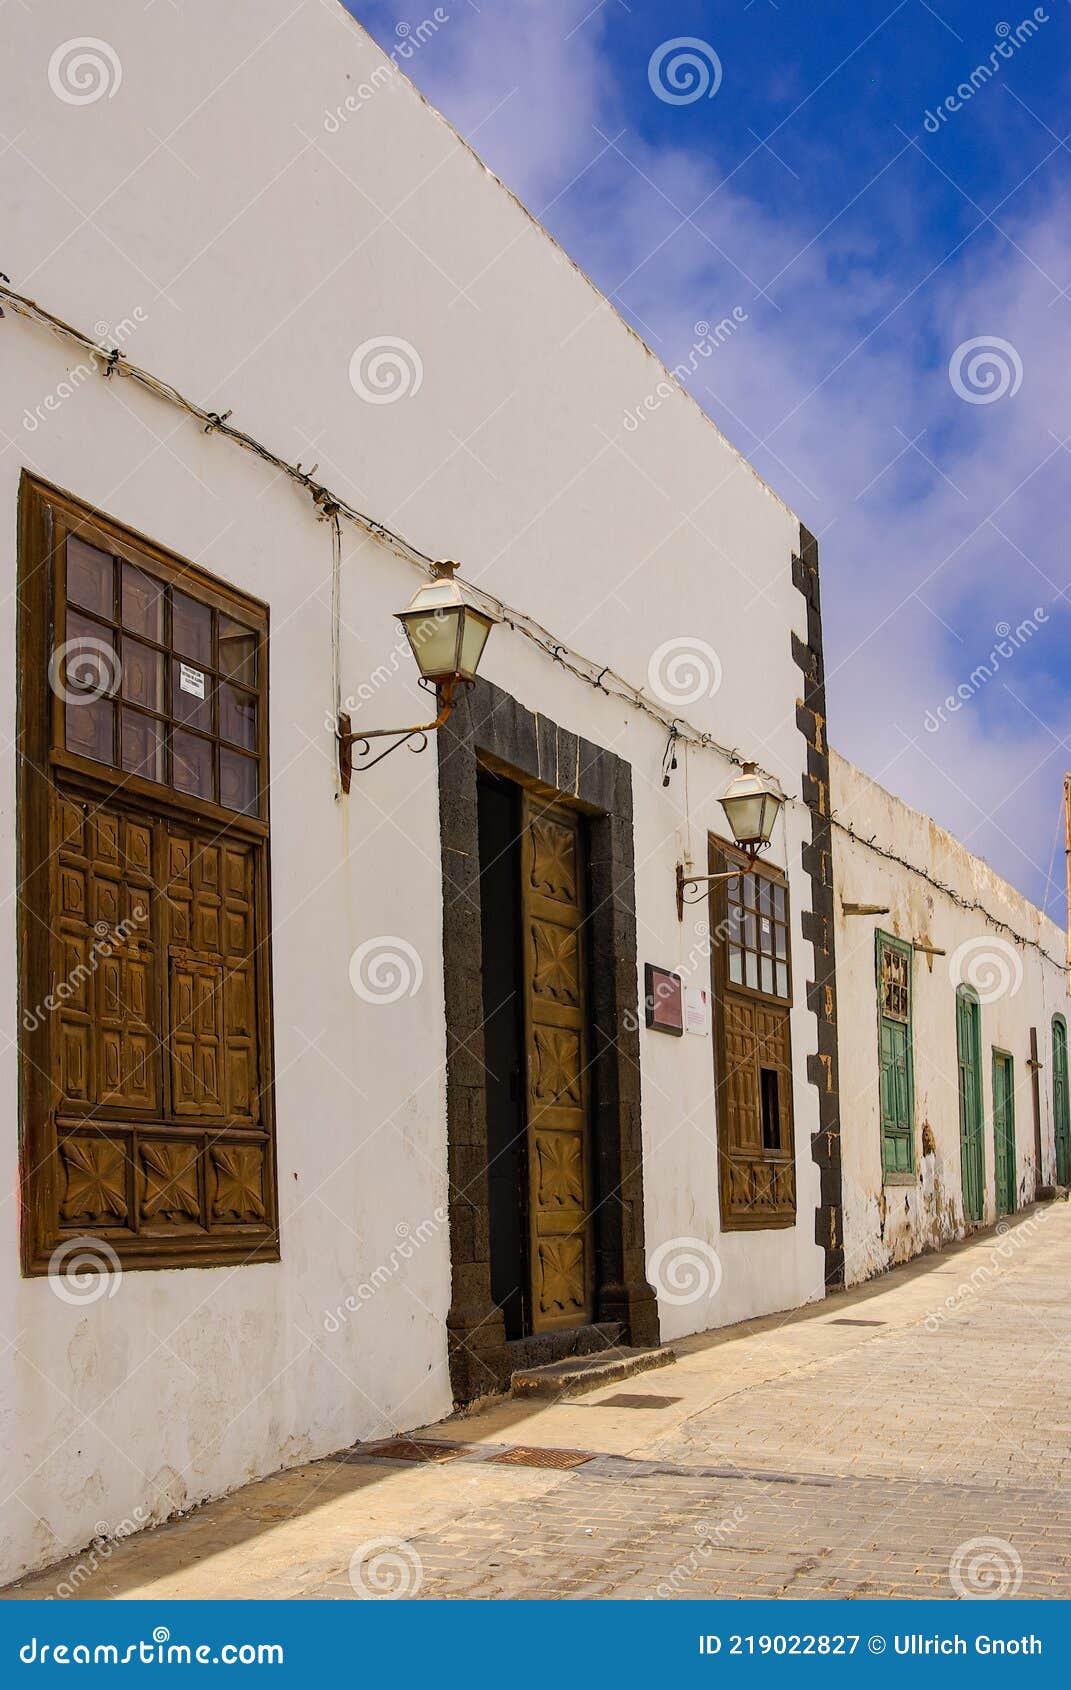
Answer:
M802 916L802 936L814 946L814 979L807 1006L818 1021L818 1051L807 1058L807 1078L818 1088L819 1131L811 1141L821 1193L814 1239L826 1252L826 1286L845 1283L845 1229L841 1197L840 1068L836 1060L836 953L833 938L833 840L829 823L829 744L826 739L826 666L818 588L818 541L799 529L799 556L792 581L807 605L807 641L792 634L792 657L804 674L804 695L796 725L807 742L804 803L811 811L811 843L802 865L811 879L811 909Z

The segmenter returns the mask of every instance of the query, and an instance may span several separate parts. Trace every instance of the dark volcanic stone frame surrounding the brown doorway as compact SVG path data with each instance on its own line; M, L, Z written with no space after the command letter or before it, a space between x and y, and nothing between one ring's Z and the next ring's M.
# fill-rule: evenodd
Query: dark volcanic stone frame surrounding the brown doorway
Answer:
M659 1342L659 1315L644 1256L630 766L601 745L532 715L490 681L476 681L466 691L436 739L453 1266L448 1338L454 1399L468 1403L507 1384L514 1367L541 1355L541 1338L507 1340L502 1313L492 1301L476 821L481 764L546 798L564 798L588 816L595 1308L598 1322L620 1322L623 1342L637 1345ZM547 1337L561 1345L561 1333ZM588 1347L583 1328L566 1337Z

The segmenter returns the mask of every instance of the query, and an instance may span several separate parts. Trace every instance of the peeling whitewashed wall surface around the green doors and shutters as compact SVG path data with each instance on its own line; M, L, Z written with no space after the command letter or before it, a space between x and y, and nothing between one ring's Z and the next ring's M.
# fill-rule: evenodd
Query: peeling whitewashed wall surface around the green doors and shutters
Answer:
M838 1046L841 1082L841 1153L845 1185L845 1257L850 1284L868 1279L948 1239L963 1237L960 1173L960 1090L956 1066L956 982L973 984L981 1004L981 1085L985 1112L985 1212L997 1220L993 1169L992 1051L1014 1056L1017 1203L1032 1202L1034 1097L1030 1028L1037 1028L1041 1070L1042 1185L1056 1175L1052 1139L1052 1016L1071 1014L1066 936L1007 880L927 816L894 798L860 769L831 754L829 791L835 821L862 840L892 850L965 902L981 904L1007 928L965 909L931 880L833 828L836 880ZM843 902L889 906L887 916L845 916ZM946 951L912 963L916 1168L914 1185L882 1183L878 1105L878 1000L875 930L921 940ZM1041 946L1042 955L1036 946ZM922 1154L922 1132L932 1154Z

